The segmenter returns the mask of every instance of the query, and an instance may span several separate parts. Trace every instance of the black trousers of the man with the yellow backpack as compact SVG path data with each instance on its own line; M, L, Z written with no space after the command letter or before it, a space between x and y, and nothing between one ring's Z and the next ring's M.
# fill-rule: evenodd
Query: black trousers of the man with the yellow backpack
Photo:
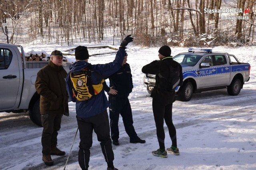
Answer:
M114 152L112 150L112 143L110 139L108 112L105 110L98 115L87 118L76 116L76 119L80 133L78 162L82 170L87 170L89 167L93 130L100 142L102 153L108 163L108 166L113 166Z

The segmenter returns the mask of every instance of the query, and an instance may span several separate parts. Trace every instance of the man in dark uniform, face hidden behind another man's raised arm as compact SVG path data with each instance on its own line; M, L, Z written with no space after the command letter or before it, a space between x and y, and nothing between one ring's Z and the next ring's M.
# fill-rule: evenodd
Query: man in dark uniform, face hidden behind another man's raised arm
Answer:
M114 94L108 92L111 139L114 145L119 145L119 115L122 116L124 129L130 137L130 143L146 143L145 140L138 137L133 126L132 109L128 99L133 84L131 68L126 63L127 56L127 53L125 53L122 67L109 77L110 87L117 91Z

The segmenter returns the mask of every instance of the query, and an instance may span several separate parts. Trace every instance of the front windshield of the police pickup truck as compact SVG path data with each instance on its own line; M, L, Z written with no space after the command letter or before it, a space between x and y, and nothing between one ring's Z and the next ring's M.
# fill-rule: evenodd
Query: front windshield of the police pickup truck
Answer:
M180 63L180 65L195 66L196 63L202 58L202 55L195 54L178 54L173 57L174 61Z

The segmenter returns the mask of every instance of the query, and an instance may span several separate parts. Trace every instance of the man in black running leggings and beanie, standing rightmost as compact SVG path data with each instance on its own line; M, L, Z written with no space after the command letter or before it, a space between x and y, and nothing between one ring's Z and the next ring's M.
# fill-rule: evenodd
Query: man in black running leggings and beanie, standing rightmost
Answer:
M183 82L182 66L172 60L171 49L164 45L158 51L159 60L155 60L142 67L145 74L155 74L156 84L151 92L152 109L156 123L156 135L159 149L152 151L154 156L167 158L167 152L179 155L177 147L176 129L172 123L172 103L175 101L175 88ZM172 146L165 150L164 120L169 130Z

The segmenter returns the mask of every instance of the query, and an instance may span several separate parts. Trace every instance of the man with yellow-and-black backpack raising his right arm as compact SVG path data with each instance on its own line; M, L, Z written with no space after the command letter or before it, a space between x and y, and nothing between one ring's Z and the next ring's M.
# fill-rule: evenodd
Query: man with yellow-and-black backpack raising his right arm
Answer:
M87 47L78 46L75 49L76 62L70 66L66 87L72 102L76 102L76 119L80 132L78 162L82 170L88 170L89 167L93 131L108 164L107 170L117 170L113 164L114 153L107 113L108 100L102 89L104 79L122 66L124 50L132 39L131 35L128 35L122 41L114 61L107 64L92 65L88 63Z

